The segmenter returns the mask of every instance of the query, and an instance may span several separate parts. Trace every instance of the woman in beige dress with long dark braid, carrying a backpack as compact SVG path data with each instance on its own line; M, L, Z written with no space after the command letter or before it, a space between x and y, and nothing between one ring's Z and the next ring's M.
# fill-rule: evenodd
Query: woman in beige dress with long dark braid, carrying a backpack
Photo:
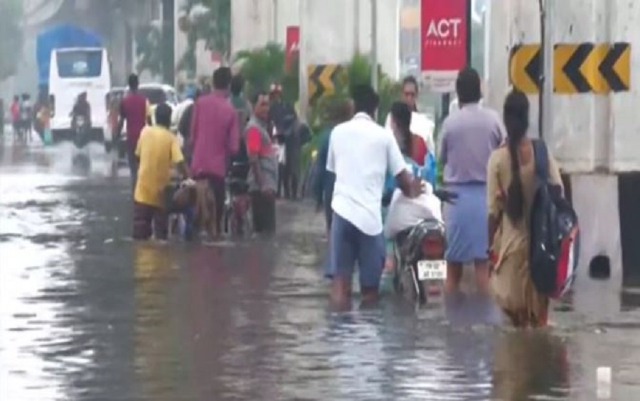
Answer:
M494 150L487 169L491 292L516 327L546 326L549 299L533 285L529 271L529 216L534 195L533 143L527 138L529 102L514 90L503 111L508 140ZM550 182L562 185L549 154Z

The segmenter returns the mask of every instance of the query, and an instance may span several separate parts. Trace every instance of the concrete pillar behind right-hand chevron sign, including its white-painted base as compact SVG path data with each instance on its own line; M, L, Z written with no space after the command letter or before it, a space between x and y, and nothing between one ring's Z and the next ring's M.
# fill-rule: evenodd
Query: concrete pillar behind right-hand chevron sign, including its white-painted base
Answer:
M572 202L580 219L582 241L576 297L592 297L594 293L608 297L586 304L585 313L602 311L602 304L611 305L607 313L616 312L617 290L623 279L623 263L628 274L638 275L638 262L631 260L640 236L640 226L622 229L625 222L638 215L637 204L626 199L619 182L637 177L640 171L640 3L634 0L562 0L547 1L553 6L553 43L628 42L631 43L631 89L617 94L554 94L552 130L545 132L550 150L569 173ZM486 49L488 70L487 96L490 106L502 108L508 91L508 54L518 43L539 43L538 2L530 0L493 0L489 13ZM538 97L530 97L531 121L537 121ZM534 123L534 125L536 125ZM535 127L534 127L535 129ZM604 170L604 174L595 174ZM634 172L618 175L619 172ZM634 198L636 199L636 198ZM630 239L629 239L630 238ZM626 244L626 245L624 245ZM631 244L631 245L629 245ZM594 282L587 276L594 256L605 255L611 260L611 280ZM627 255L627 256L625 256ZM625 262L625 259L631 262ZM609 288L610 287L610 288ZM611 299L609 299L611 298Z

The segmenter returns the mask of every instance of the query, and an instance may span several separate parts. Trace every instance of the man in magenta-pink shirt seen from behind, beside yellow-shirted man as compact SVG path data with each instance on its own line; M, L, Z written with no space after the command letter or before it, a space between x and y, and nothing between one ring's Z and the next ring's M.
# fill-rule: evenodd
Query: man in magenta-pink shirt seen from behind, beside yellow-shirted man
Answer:
M230 158L240 150L238 113L229 101L231 69L220 67L213 73L213 92L199 97L191 116L191 171L196 179L206 179L215 196L218 233L225 202L225 176Z

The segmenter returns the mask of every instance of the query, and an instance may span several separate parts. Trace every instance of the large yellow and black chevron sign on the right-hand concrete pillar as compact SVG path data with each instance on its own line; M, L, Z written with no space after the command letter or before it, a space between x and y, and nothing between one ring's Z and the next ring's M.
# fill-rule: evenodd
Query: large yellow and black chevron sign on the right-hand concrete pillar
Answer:
M558 43L553 48L553 92L560 94L629 91L629 43ZM525 93L538 93L540 46L511 49L509 79Z

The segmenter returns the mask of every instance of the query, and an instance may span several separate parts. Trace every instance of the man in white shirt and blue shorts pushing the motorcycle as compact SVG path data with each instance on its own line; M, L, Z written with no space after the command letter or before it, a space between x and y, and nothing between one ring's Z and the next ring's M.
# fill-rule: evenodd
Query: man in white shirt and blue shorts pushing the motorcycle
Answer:
M331 298L338 304L351 297L353 269L358 263L363 302L378 298L385 262L382 195L390 171L407 197L421 193L420 179L406 170L393 134L375 123L379 98L372 87L353 89L356 115L331 133L326 169L336 174L329 240Z

